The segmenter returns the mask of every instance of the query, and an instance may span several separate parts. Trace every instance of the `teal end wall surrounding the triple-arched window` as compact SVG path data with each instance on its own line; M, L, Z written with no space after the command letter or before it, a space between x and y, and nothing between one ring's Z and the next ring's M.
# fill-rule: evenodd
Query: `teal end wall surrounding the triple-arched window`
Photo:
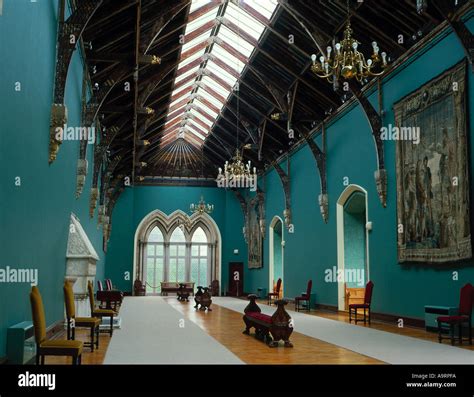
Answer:
M106 277L110 277L118 288L131 291L133 244L141 220L156 209L167 215L178 209L187 211L191 203L199 201L202 193L206 202L214 204L211 217L222 237L221 288L228 290L228 263L247 263L247 248L242 235L243 216L240 204L232 192L219 188L142 186L125 190L112 217L113 230L108 245ZM238 254L234 254L234 249L238 250Z

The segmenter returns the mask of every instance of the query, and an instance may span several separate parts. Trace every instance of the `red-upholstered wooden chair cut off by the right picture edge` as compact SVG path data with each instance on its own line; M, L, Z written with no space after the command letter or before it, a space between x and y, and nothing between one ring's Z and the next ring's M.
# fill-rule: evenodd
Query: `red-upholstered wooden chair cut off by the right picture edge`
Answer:
M462 345L462 327L464 324L468 326L469 333L469 344L472 345L472 300L474 299L474 288L471 284L467 283L461 288L461 296L459 298L459 311L456 316L440 316L436 320L438 321L438 340L442 343L442 325L449 325L449 333L451 344L454 345L454 327L457 325L459 328L459 344Z

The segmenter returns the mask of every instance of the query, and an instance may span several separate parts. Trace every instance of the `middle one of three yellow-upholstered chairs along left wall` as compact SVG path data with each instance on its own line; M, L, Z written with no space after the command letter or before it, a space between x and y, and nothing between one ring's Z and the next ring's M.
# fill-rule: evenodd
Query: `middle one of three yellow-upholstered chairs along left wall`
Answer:
M89 328L91 331L90 343L84 343L84 346L91 348L94 351L94 346L99 348L99 325L100 319L96 317L76 317L76 305L74 303L74 292L72 290L72 283L68 280L64 281L64 304L66 306L67 319L67 339L76 339L76 328Z

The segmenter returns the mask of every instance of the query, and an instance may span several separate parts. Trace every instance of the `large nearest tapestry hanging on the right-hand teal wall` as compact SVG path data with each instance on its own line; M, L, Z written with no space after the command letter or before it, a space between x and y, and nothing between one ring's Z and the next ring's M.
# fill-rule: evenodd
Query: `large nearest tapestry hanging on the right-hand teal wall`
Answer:
M472 257L466 84L462 62L394 106L399 262Z

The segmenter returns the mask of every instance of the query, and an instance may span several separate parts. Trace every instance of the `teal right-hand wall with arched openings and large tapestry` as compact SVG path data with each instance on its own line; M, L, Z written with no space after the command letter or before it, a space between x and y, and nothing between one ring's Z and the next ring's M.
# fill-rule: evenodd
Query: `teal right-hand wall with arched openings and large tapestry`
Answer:
M468 26L474 28L474 20ZM394 124L392 106L405 95L452 67L464 57L463 49L451 33L427 52L405 65L395 76L383 82L384 124ZM469 74L469 114L474 114L474 79ZM370 97L376 104L376 93ZM320 138L317 138L320 143ZM353 107L327 128L327 180L329 222L324 224L318 207L320 182L314 158L307 145L291 156L291 200L294 233L285 231L284 278L285 296L294 297L313 280L316 301L337 306L337 284L324 281L324 271L337 267L336 201L349 183L367 190L368 218L373 222L369 233L370 278L375 283L375 312L422 318L424 305L459 303L459 289L474 281L474 261L454 265L401 265L397 261L396 242L396 175L395 142L385 142L385 164L388 171L387 207L380 204L374 181L376 156L369 125L359 106ZM470 124L470 152L474 153L473 123ZM472 162L471 162L472 164ZM284 166L284 169L285 166ZM471 186L474 169L471 165ZM266 222L282 216L284 194L274 170L266 176ZM471 205L474 197L471 197ZM472 208L472 207L471 207ZM472 210L471 210L472 212ZM474 232L474 231L471 231ZM268 232L265 247L268 245ZM268 284L268 249L264 250L264 267L248 272L248 289L255 292ZM452 272L459 272L453 281ZM250 285L249 285L250 284Z

